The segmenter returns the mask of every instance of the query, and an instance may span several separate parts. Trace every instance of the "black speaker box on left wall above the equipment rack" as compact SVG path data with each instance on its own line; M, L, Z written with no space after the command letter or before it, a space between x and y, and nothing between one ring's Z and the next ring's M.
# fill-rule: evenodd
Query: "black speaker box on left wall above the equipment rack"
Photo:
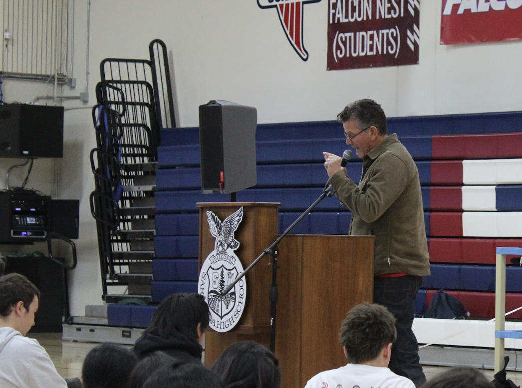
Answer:
M0 157L62 157L63 106L0 105Z

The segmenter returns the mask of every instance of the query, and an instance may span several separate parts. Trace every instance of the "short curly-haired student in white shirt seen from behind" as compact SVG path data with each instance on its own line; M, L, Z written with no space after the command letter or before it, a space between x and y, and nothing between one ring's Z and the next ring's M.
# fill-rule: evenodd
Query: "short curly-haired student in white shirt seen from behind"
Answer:
M339 335L349 363L316 374L305 388L415 388L411 380L388 369L396 338L395 318L386 307L367 303L355 306L342 321Z

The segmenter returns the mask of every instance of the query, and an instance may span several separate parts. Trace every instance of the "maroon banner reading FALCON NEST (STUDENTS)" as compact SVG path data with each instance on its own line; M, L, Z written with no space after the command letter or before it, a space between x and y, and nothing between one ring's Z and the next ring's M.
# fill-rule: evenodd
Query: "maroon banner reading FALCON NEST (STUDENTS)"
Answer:
M328 0L327 70L419 63L420 0Z

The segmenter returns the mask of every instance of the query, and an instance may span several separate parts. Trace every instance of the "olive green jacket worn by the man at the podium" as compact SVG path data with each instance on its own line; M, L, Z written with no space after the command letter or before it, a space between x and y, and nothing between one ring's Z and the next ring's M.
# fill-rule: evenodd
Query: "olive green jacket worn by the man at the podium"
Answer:
M430 274L419 171L396 134L363 157L359 185L342 172L330 184L352 211L348 234L375 236L375 275Z

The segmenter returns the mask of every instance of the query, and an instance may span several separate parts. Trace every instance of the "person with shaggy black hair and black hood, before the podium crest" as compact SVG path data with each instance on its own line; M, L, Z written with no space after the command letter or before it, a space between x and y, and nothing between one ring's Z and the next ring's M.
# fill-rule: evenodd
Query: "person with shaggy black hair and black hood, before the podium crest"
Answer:
M209 320L203 295L172 294L159 304L149 326L136 340L134 351L139 358L161 350L186 362L201 360Z

